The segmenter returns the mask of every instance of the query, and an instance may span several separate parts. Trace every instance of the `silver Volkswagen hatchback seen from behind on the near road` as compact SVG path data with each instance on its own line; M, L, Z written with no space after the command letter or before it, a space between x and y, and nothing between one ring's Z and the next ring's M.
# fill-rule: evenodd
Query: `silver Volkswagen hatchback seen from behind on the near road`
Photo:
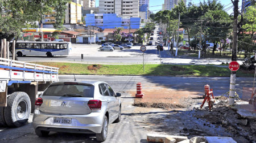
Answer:
M102 81L52 83L36 99L35 133L96 133L98 141L105 141L108 124L121 120L120 96Z

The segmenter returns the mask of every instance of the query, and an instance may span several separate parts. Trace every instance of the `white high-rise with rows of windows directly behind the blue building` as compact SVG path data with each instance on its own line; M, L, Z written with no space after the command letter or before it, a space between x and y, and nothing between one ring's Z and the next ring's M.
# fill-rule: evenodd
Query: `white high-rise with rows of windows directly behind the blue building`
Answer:
M99 13L138 18L139 0L100 0Z

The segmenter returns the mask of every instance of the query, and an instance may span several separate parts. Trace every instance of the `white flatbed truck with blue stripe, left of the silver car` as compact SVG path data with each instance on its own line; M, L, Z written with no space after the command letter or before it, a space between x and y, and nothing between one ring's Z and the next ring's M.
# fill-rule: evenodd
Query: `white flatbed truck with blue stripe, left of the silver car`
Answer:
M38 91L58 81L59 68L0 58L0 127L27 124Z

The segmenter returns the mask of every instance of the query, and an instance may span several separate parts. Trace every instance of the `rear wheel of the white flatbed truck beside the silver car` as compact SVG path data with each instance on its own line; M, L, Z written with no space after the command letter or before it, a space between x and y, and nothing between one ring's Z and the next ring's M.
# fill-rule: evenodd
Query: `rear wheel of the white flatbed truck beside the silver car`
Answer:
M27 93L14 92L7 98L7 107L4 110L7 125L20 127L27 124L30 112L31 102Z

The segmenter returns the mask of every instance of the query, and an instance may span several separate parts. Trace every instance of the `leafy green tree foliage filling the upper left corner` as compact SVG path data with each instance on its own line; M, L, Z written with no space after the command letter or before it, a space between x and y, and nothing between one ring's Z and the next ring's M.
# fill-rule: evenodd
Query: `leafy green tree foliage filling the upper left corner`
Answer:
M11 41L18 38L22 28L36 27L42 15L55 10L55 28L61 28L65 16L65 6L69 0L0 0L0 38Z

